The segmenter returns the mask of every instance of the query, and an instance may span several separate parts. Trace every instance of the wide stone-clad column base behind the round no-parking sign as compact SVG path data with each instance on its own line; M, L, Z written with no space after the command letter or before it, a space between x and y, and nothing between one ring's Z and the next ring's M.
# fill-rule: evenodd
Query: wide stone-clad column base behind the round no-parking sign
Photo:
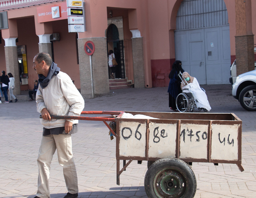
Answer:
M85 43L88 40L92 41L95 45L95 52L91 55L92 71L90 68L90 56L85 53ZM103 94L108 94L110 90L106 37L78 38L77 45L82 96L85 98L94 98Z

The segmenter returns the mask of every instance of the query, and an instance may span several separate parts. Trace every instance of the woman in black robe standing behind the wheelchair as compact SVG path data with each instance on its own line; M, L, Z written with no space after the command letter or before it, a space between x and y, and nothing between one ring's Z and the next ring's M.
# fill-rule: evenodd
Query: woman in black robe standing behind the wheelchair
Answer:
M176 97L181 93L181 79L178 75L179 72L183 73L184 69L181 67L181 61L176 60L173 64L173 69L171 69L171 72L169 74L170 82L168 87L169 107L173 110L177 110Z

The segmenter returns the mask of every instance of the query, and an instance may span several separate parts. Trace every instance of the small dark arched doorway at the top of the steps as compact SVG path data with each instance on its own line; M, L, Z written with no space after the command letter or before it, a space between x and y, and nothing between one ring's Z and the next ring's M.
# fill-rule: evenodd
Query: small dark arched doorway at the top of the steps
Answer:
M107 52L113 50L116 57L116 73L115 78L125 78L124 67L124 42L119 38L119 29L115 24L111 23L107 28ZM110 72L109 72L110 76Z

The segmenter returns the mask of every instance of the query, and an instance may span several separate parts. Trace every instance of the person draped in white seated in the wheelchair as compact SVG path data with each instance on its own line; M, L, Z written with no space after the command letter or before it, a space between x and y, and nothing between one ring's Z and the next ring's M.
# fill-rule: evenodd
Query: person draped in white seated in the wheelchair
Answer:
M192 93L198 108L210 111L211 106L207 95L205 91L201 89L198 80L195 77L191 77L188 72L183 72L182 77L181 90L183 90L183 93Z

